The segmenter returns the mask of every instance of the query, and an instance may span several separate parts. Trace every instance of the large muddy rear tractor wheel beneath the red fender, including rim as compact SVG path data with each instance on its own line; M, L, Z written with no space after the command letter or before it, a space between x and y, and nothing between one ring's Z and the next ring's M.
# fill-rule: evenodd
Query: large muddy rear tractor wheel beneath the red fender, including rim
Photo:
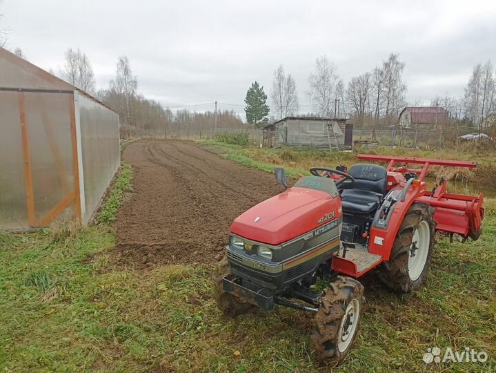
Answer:
M420 287L427 277L435 243L434 208L414 203L399 227L390 260L379 278L395 291L408 293Z

